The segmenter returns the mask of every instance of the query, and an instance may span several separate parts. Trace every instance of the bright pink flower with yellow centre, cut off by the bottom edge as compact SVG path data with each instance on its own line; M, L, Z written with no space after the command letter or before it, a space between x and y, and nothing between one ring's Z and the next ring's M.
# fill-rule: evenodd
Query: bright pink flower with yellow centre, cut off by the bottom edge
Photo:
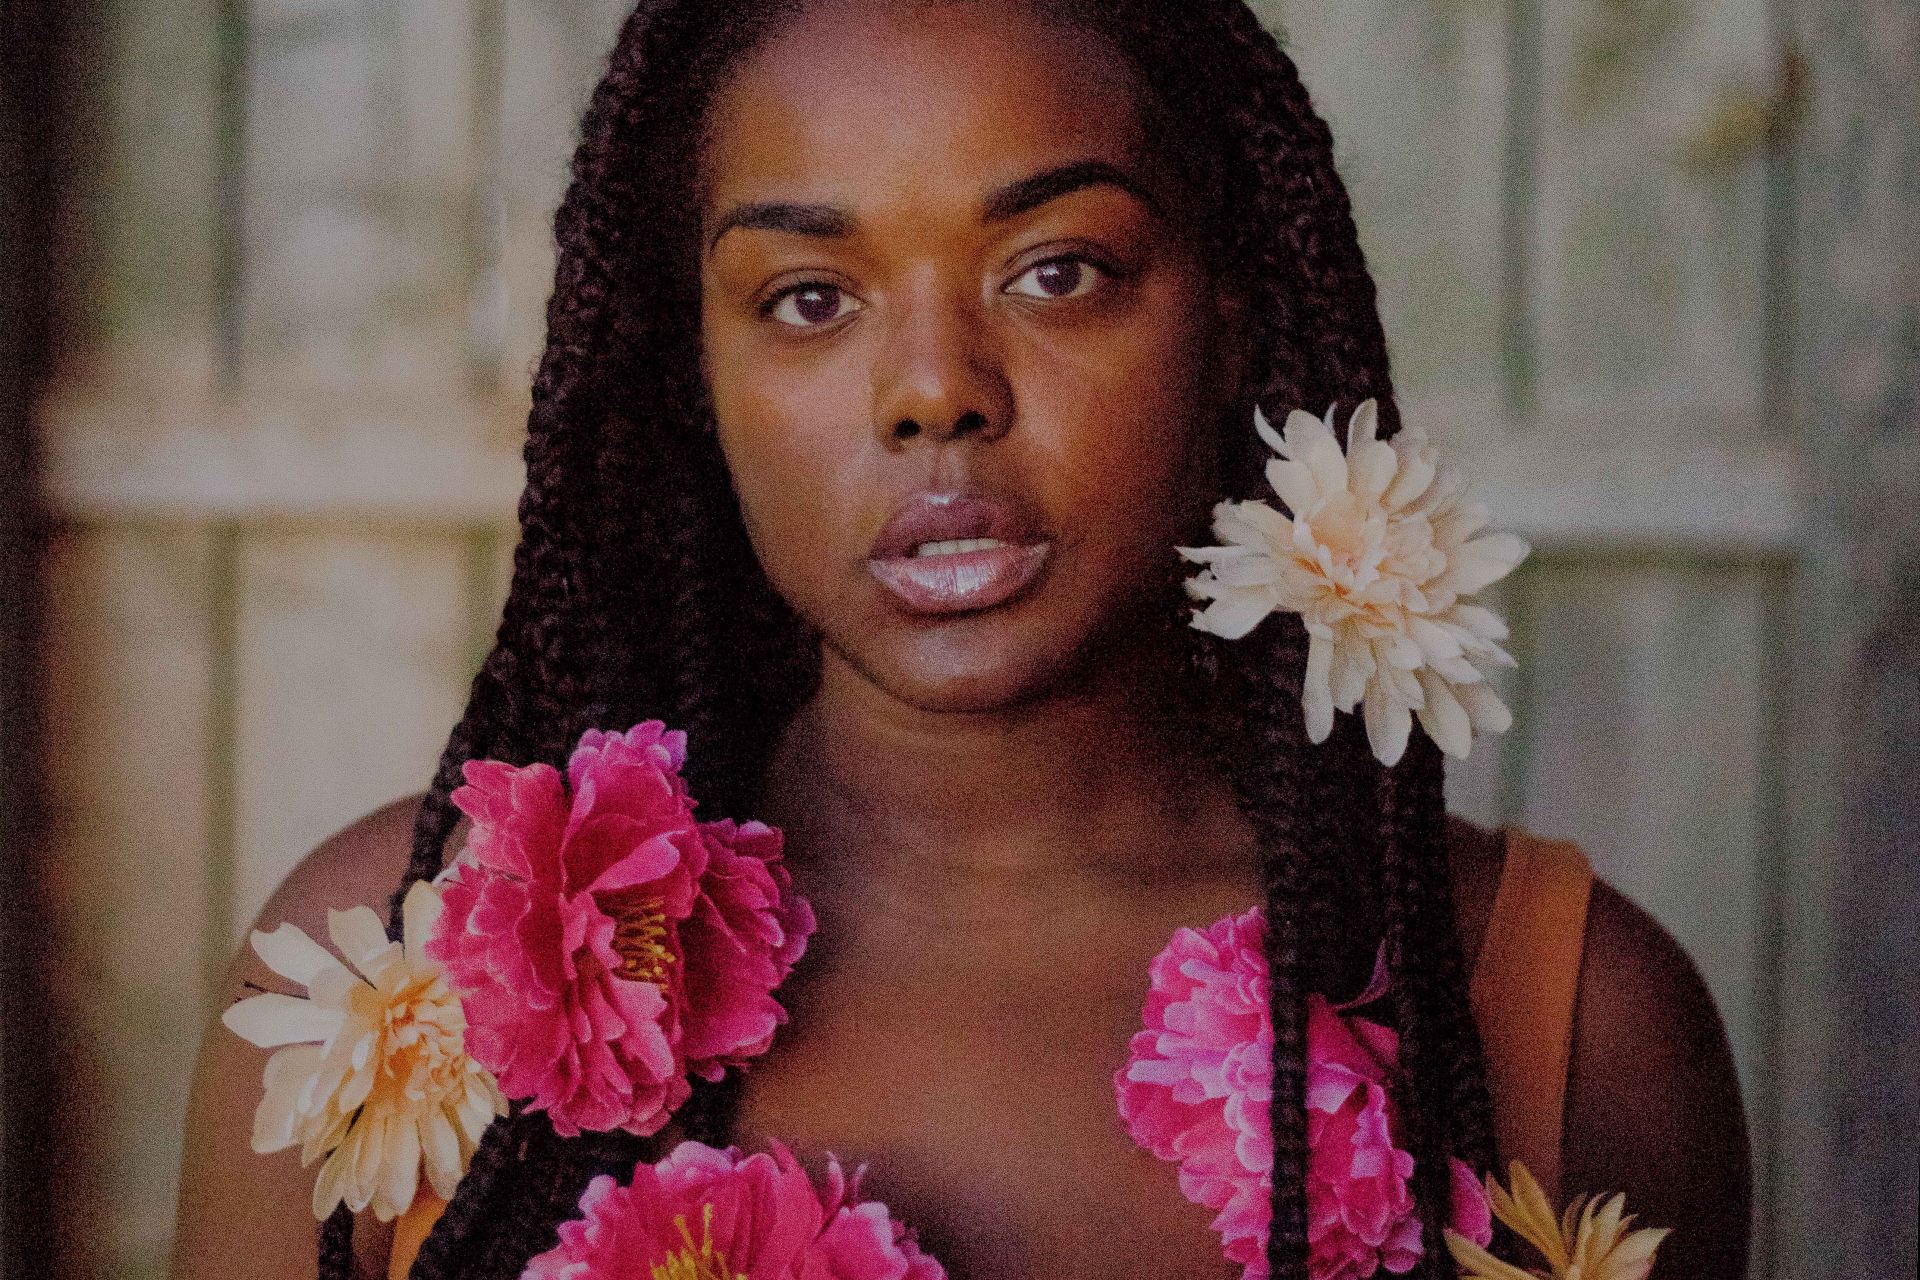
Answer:
M741 1157L682 1142L626 1186L593 1178L580 1219L522 1280L945 1280L860 1173L828 1157L814 1188L787 1148Z

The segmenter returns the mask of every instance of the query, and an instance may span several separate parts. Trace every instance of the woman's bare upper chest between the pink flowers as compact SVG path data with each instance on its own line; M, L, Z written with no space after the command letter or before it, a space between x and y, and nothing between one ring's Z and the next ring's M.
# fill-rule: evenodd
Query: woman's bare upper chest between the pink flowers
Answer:
M868 1163L864 1194L954 1280L1236 1276L1212 1213L1114 1105L1171 925L1048 923L843 931L745 1073L737 1138L780 1138L816 1169L826 1151Z

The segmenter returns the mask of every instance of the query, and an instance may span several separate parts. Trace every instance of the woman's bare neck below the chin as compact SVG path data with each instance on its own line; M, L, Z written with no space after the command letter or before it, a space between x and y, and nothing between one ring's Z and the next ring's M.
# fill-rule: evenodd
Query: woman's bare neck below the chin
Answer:
M774 756L768 812L810 862L948 889L1215 871L1231 854L1164 839L1210 825L1217 789L1154 658L1116 654L1098 679L1018 706L935 712L829 651Z

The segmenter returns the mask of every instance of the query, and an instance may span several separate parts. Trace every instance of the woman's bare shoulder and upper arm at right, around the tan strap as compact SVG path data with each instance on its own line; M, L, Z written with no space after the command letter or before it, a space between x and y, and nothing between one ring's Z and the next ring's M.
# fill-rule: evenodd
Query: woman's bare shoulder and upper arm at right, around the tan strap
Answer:
M1469 971L1503 864L1501 831L1448 816L1453 919ZM1624 1192L1640 1222L1674 1228L1655 1280L1738 1280L1749 1159L1740 1079L1713 994L1657 919L1596 879L1567 1069L1563 1194Z

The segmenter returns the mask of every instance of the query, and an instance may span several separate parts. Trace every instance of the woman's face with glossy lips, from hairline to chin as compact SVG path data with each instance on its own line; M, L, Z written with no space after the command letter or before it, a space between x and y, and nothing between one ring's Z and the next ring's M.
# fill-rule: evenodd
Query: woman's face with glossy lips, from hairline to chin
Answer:
M826 0L732 71L705 372L828 662L991 710L1160 606L1236 390L1187 205L1131 69L1020 4Z

